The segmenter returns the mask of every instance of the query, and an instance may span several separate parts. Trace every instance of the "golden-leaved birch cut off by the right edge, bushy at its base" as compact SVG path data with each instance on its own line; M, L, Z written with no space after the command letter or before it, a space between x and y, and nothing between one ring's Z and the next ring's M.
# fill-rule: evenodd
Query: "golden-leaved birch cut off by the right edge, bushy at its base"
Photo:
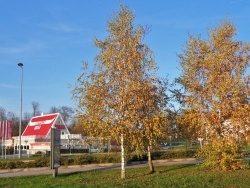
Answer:
M236 40L228 20L209 30L207 40L190 36L180 55L188 131L210 144L201 154L212 167L238 169L244 165L242 147L248 142L249 44ZM194 132L193 132L194 133Z

